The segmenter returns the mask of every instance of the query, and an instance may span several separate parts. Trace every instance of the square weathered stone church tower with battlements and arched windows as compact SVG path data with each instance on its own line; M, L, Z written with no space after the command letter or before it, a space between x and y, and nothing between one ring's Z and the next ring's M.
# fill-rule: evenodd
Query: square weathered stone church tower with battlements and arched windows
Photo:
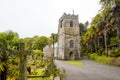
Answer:
M59 59L74 60L80 58L78 15L64 13L59 19L57 48Z

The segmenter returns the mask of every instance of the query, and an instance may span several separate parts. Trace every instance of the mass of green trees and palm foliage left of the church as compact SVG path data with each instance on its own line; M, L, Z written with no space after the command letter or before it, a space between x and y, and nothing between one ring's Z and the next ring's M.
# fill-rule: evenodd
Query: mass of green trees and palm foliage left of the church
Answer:
M0 80L19 79L21 59L42 60L43 48L52 44L53 40L46 36L19 38L13 31L0 33ZM24 46L21 47L21 44ZM30 54L31 53L31 54ZM27 56L27 57L26 57ZM24 59L25 60L25 59ZM25 68L25 67L23 67ZM24 72L25 73L25 72Z

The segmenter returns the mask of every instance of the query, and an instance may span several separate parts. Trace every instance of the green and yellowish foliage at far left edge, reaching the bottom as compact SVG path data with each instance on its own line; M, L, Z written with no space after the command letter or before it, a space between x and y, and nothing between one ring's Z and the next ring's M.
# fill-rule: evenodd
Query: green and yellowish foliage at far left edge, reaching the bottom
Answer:
M0 33L0 80L6 80L12 64L17 65L17 61L13 62L11 58L15 58L13 55L18 46L18 38L18 34L12 31Z

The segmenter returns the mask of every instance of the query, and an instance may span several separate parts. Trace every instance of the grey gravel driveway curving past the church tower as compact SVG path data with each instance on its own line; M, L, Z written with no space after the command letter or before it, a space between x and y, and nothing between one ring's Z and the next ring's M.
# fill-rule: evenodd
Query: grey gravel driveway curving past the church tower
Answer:
M104 65L91 60L80 60L80 62L85 66L55 60L55 64L59 68L65 69L65 80L120 80L120 67Z

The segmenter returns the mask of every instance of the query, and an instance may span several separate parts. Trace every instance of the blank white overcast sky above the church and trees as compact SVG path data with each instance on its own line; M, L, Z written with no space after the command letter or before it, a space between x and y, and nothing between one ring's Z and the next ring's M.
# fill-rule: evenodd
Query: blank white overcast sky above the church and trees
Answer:
M63 13L91 21L100 10L99 0L0 0L0 32L12 30L20 37L57 33Z

